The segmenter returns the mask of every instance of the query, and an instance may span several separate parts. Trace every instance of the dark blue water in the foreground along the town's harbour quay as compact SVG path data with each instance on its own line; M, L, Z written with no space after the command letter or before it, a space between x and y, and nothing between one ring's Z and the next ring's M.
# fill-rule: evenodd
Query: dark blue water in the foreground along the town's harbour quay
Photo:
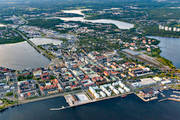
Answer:
M65 104L62 97L28 103L0 113L0 120L180 120L180 103L145 103L135 95L49 111Z

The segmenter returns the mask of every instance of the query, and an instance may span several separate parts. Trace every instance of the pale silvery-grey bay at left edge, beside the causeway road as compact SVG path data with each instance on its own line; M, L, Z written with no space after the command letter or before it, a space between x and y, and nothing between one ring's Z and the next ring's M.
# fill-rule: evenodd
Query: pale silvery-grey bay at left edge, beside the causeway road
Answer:
M47 66L50 61L27 42L0 45L0 66L27 69Z

